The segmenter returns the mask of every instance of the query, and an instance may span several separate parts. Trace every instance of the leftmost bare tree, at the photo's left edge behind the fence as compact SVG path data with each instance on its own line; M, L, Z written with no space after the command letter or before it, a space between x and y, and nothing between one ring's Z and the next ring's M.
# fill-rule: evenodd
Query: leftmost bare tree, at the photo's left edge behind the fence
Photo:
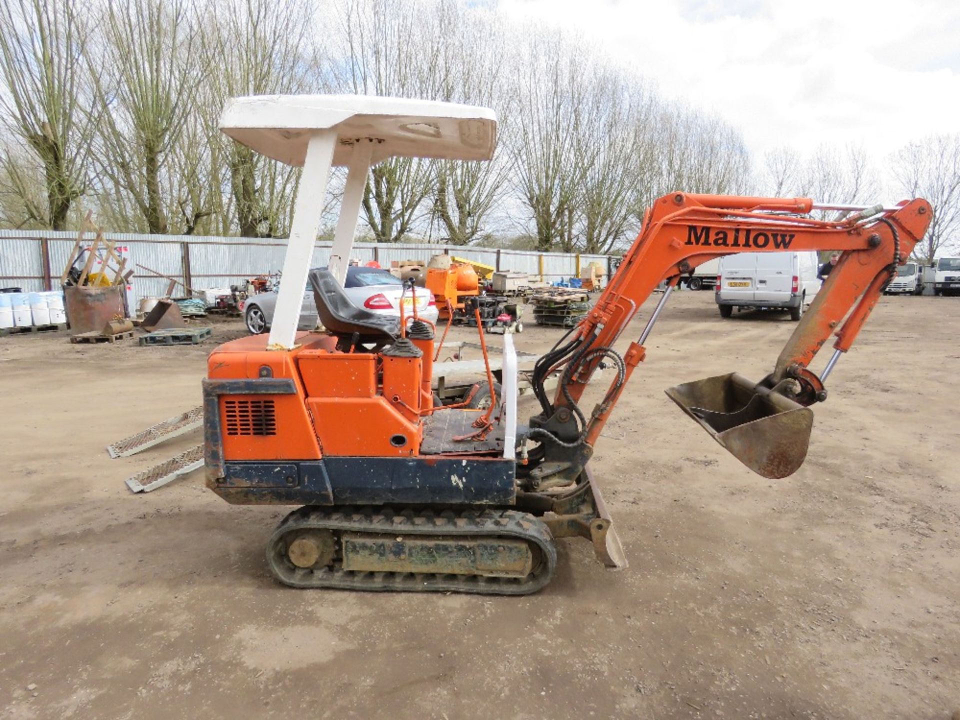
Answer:
M75 0L0 3L0 122L36 157L45 203L15 153L2 156L8 190L20 197L25 220L63 229L71 204L85 191L94 120L84 102L84 24Z

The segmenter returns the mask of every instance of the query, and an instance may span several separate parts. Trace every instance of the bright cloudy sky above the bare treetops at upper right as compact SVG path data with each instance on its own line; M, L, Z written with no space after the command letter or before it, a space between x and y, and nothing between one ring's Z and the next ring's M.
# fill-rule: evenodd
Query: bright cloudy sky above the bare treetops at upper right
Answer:
M499 0L598 42L718 112L752 151L861 144L876 161L960 132L960 1Z

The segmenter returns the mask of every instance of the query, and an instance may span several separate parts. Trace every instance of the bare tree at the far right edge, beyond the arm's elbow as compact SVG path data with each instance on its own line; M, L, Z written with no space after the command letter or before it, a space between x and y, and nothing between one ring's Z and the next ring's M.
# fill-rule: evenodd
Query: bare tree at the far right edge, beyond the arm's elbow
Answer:
M914 256L932 263L938 252L960 246L960 134L933 135L893 156L900 190L933 205L933 219Z

